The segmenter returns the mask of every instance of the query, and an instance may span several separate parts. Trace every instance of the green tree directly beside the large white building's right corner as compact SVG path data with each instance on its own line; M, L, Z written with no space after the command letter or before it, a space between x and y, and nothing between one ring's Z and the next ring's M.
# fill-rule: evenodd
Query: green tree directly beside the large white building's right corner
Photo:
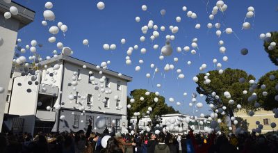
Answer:
M139 120L148 115L146 112L149 107L152 107L152 111L150 113L150 118L152 122L156 122L157 117L167 113L177 113L178 111L174 111L174 108L169 108L167 104L165 104L165 98L161 95L156 96L154 92L150 92L149 95L145 95L147 90L145 89L136 89L131 91L130 97L128 97L128 104L131 105L131 108L127 110L127 118L130 122L131 117L134 116L135 112L140 112L140 115L136 117L136 131L138 130ZM140 101L140 97L144 97L143 101ZM158 98L158 102L154 102L154 98ZM134 99L135 102L131 103L130 99ZM155 126L154 124L152 126Z

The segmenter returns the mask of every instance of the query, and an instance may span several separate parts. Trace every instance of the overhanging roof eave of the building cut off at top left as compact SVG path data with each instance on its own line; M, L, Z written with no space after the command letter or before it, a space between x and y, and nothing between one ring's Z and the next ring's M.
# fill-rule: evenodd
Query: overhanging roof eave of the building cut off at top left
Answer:
M11 3L0 1L0 13L6 13L10 11L10 6L15 6L18 10L18 15L12 15L12 18L19 21L19 29L22 29L24 26L34 21L35 11L26 8L19 3L15 3L14 1Z

